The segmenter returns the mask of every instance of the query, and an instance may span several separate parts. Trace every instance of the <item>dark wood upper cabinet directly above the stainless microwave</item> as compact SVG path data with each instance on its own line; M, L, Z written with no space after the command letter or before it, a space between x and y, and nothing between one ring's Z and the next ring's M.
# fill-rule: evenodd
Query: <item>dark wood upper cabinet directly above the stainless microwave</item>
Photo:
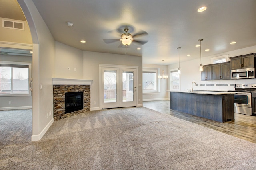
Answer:
M255 67L255 53L230 57L231 70Z

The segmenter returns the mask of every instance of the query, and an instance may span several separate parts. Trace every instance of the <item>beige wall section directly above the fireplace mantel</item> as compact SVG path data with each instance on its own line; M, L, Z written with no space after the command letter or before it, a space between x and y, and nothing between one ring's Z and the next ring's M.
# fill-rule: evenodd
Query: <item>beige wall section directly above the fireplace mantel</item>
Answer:
M56 41L54 67L55 78L82 79L83 51Z

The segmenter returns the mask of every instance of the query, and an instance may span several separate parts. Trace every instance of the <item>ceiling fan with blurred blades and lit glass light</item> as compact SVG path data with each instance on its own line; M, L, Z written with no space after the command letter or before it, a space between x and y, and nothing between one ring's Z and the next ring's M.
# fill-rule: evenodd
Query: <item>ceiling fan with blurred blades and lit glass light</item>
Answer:
M122 29L116 29L118 32L123 32ZM140 37L140 36L144 36L144 35L148 35L148 33L146 31L140 31L138 33L136 33L135 35L131 35L130 33L127 33L129 31L129 29L126 27L124 28L124 32L125 33L122 33L121 35L121 39L103 39L103 41L105 43L114 43L116 41L121 41L122 43L118 46L118 47L122 47L123 45L125 45L126 47L128 45L130 45L132 42L136 42L140 45L144 45L145 43L147 43L148 41L142 41L142 40L135 40L137 37Z

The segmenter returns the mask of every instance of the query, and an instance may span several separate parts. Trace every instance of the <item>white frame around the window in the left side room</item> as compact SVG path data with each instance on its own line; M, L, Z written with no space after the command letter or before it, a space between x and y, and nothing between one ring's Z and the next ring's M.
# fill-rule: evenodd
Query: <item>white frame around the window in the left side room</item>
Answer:
M1 61L0 64L26 65L26 66L28 66L28 80L30 80L30 78L31 78L31 63L14 62L14 61ZM28 82L28 86L30 86L29 82ZM0 94L0 97L7 97L7 96L31 96L31 91L28 88L28 94Z

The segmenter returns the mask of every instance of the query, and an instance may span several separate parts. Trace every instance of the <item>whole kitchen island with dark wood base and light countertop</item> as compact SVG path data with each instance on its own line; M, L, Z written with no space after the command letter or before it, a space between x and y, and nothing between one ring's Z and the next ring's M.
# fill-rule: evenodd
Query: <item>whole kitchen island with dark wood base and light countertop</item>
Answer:
M234 93L170 91L170 109L218 122L234 120Z

